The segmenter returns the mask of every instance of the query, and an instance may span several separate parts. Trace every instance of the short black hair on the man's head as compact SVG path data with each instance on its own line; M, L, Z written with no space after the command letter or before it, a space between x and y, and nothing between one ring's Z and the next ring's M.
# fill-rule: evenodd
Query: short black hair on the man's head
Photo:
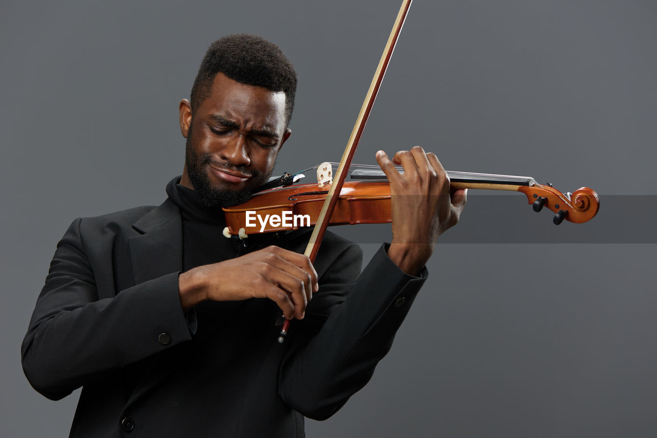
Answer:
M217 73L223 73L240 84L283 91L285 124L290 123L297 78L292 63L279 46L251 34L234 34L214 41L208 47L194 80L192 113L210 97Z

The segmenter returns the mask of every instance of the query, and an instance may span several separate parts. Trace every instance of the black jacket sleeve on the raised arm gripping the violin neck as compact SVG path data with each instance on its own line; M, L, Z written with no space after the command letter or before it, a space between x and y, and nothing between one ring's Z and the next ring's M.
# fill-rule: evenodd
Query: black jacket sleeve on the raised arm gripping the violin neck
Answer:
M301 333L283 360L279 394L304 416L325 420L365 386L426 280L426 268L420 277L409 276L386 250L382 246L358 276L362 253L350 247L320 284L330 297L320 306L327 314L323 326L294 328Z

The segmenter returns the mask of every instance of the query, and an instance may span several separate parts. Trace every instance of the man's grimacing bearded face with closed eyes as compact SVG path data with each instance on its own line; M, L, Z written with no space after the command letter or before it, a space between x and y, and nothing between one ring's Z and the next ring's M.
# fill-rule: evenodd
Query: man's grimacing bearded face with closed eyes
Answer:
M246 202L267 182L284 141L285 94L244 85L219 73L212 93L191 118L180 104L187 137L181 184L193 188L206 207Z

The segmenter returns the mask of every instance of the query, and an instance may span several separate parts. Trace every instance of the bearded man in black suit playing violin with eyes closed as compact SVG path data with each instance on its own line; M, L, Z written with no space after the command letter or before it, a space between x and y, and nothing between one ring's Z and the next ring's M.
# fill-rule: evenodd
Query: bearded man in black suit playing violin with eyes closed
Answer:
M332 233L314 265L300 254L306 230L250 237L241 255L221 207L271 176L295 91L277 46L215 41L179 105L185 167L168 199L66 231L22 358L50 399L83 387L70 436L303 437L304 416L334 414L390 349L465 193L450 198L440 162L419 147L392 161L380 152L394 238L362 274L359 247ZM281 311L297 320L284 345Z

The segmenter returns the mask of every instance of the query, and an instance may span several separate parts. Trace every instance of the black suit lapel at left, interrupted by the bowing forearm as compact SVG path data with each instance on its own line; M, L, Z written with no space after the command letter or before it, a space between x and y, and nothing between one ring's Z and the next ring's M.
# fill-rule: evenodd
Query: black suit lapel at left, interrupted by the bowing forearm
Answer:
M170 199L133 224L139 235L129 247L135 284L183 269L183 226L180 210ZM148 310L145 310L148 311ZM130 395L125 408L158 385L178 366L189 343L177 345L152 357L147 372Z

